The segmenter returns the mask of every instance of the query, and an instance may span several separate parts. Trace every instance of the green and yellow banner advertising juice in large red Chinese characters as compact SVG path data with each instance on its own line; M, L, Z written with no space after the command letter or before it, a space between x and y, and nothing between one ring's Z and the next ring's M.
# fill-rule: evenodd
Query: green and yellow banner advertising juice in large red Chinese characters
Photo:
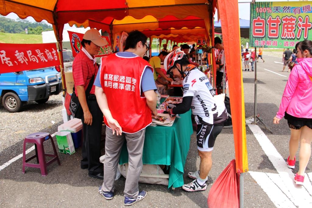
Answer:
M311 2L250 4L250 44L262 48L294 48L312 39Z

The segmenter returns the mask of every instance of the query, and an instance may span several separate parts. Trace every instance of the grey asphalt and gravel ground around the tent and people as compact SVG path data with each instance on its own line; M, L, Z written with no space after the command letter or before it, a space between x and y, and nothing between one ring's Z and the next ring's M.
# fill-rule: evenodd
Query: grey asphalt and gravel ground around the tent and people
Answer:
M268 128L272 130L272 134L263 130L271 143L281 156L286 159L288 157L288 141L290 130L285 119L280 124L272 123L275 116L280 99L288 79L288 72L281 72L281 58L266 56L263 58L265 63L260 61L257 68L258 90L257 90L257 113L266 123ZM267 69L267 70L265 70ZM271 70L273 72L270 72ZM254 72L243 71L244 82L244 99L246 117L253 115L254 112ZM59 99L59 97L58 97ZM45 107L41 107L38 113L44 113L49 107L60 109L61 102L55 104L48 101ZM33 105L34 108L37 108ZM7 115L3 107L0 107L0 114L6 115L6 119L1 121L0 132L0 166L17 155L22 153L22 141L24 135L36 131L45 131L55 133L58 124L51 124L53 118L49 118L49 122L42 125L36 125L34 122L27 120L19 120L19 114L26 114L27 111ZM61 115L54 115L61 119ZM35 117L36 118L36 117ZM37 117L34 120L39 120ZM14 123L16 128L14 129ZM23 133L19 134L19 128L23 124ZM13 124L13 125L12 125ZM36 125L36 128L34 128ZM7 136L8 129L12 128L11 133ZM13 126L13 127L12 127ZM4 133L5 132L5 133ZM200 159L197 155L196 134L191 137L190 150L188 152L187 161L184 168L184 181L190 182L187 172L195 171L199 168ZM278 173L264 152L261 145L256 140L254 134L246 126L247 151L249 170L252 172ZM3 138L6 138L5 140ZM10 140L10 141L9 141ZM9 145L7 144L9 141ZM55 137L54 137L55 141ZM4 144L5 143L5 144ZM56 142L55 142L56 143ZM28 146L27 148L29 148ZM47 145L46 149L51 149ZM34 151L28 154L32 155ZM220 175L227 164L234 159L234 142L231 128L224 128L219 134L215 148L213 150L213 166L208 176L208 186L206 191L188 193L181 188L176 190L168 190L166 186L139 184L140 190L147 191L147 197L133 205L133 207L207 207L207 196L213 182ZM125 179L121 177L115 182L115 197L113 200L106 201L97 193L98 187L102 181L88 177L87 170L80 169L81 149L71 155L59 153L61 166L53 163L48 166L48 175L42 177L39 169L26 167L26 173L22 174L22 158L13 162L0 171L0 206L2 207L123 207L123 188ZM297 155L297 158L298 155ZM311 172L311 159L306 172ZM298 162L294 173L298 171ZM249 173L244 174L244 207L275 207L270 197L259 186Z

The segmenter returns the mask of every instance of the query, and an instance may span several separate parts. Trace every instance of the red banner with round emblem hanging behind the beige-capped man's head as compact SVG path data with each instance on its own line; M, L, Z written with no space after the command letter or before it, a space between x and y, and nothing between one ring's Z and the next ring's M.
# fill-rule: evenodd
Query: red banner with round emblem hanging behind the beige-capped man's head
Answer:
M68 35L69 35L69 40L71 41L71 50L73 52L73 56L75 57L79 53L82 47L81 41L83 39L84 34L79 33L79 32L68 31ZM111 47L112 44L111 44L109 37L102 36L102 38L106 40L107 44L103 47L100 47L99 54L96 55L96 57L107 56L113 53L112 47Z

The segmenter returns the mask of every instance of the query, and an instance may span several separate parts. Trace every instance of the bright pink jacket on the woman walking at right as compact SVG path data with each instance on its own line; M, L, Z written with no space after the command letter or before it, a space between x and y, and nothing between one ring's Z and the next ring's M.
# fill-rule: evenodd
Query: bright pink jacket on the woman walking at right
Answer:
M298 59L290 72L284 89L280 109L276 118L281 119L285 111L297 118L312 119L312 58Z

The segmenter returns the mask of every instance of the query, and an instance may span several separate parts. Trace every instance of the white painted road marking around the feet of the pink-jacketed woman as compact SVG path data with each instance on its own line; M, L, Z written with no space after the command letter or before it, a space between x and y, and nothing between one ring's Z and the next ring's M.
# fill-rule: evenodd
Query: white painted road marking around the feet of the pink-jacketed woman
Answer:
M308 175L305 176L306 179L304 186L295 185L293 181L294 180L293 172L291 171L290 168L287 167L283 157L280 155L279 152L277 152L274 145L262 132L260 127L252 124L248 124L248 127L250 128L255 138L259 142L261 148L268 156L269 160L272 162L273 166L278 172L278 174L264 173L265 175L251 172L251 176L257 182L259 181L259 185L270 197L270 199L272 200L272 202L275 204L276 207L285 207L284 204L282 203L283 201L277 200L284 199L285 197L289 198L289 200L295 206L312 207L312 196L311 196L312 185L310 183ZM272 184L270 181L272 181L272 183L274 183L275 186L280 189L280 191L276 191L274 189L276 187L273 186L271 187ZM271 188L275 191L269 190Z

